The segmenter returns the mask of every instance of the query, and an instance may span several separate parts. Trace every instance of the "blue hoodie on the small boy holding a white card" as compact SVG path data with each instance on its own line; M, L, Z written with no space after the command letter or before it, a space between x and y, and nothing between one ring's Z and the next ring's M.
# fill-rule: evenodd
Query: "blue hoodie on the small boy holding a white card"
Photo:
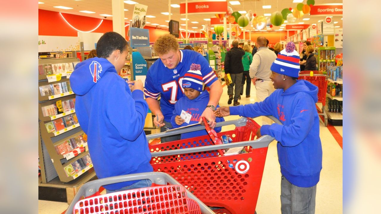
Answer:
M207 91L204 91L201 93L198 97L196 97L193 100L188 99L188 97L183 96L181 97L176 104L174 104L174 110L173 115L171 117L171 124L173 128L179 128L182 126L192 125L195 123L199 123L201 119L202 112L204 112L205 108L207 107L209 102L209 93ZM217 105L219 107L219 105ZM192 115L191 121L188 123L183 123L180 126L176 124L174 121L174 118L177 115L181 115L181 111L184 110L187 113L190 113ZM223 117L216 117L216 122L222 122L225 121ZM221 127L215 128L216 132L221 131ZM193 131L189 133L183 133L181 134L181 139L191 138L191 137L197 137L197 136L203 136L207 135L207 131L205 129L200 131Z

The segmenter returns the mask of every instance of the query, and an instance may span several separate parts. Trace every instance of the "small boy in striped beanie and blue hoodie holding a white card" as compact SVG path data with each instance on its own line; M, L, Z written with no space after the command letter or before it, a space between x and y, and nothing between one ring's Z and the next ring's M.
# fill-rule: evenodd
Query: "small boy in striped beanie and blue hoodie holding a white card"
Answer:
M185 73L184 78L182 79L182 88L184 89L185 96L181 97L176 104L174 104L173 116L171 117L171 125L173 128L199 123L202 112L205 108L209 107L213 111L216 110L213 105L208 105L209 93L202 90L202 78L201 66L199 64L191 64L190 70ZM217 105L217 107L219 106ZM183 110L192 115L189 124L185 123L185 120L180 117ZM221 121L225 121L223 117L216 117L216 123ZM215 131L220 132L221 127L215 128ZM207 134L208 133L205 129L193 131L181 134L181 139Z

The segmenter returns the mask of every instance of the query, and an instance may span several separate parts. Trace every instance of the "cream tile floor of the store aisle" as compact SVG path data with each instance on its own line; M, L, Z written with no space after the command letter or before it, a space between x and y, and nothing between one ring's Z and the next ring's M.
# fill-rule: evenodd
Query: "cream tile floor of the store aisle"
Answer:
M246 86L245 86L246 87ZM227 105L227 87L220 100L221 106ZM245 95L245 94L244 94ZM251 97L242 96L239 102L249 104L256 101L255 87L251 85ZM234 120L238 116L229 116L225 120ZM260 118L255 121L261 125ZM335 126L336 130L343 136L343 127ZM230 127L224 127L229 130ZM317 214L341 214L343 213L343 150L333 138L330 131L320 122L320 139L323 147L323 169L320 174L320 182L317 185L316 212ZM263 172L261 189L259 191L256 211L258 214L279 214L280 213L280 169L277 157L276 142L269 145L266 163ZM68 207L67 203L53 201L38 201L39 214L61 214Z

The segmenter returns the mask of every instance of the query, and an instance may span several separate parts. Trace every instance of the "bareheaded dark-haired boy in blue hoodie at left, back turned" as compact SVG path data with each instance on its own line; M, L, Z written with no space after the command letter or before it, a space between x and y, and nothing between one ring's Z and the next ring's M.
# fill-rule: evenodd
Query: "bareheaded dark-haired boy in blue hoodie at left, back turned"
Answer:
M151 155L143 131L148 112L140 80L129 84L118 73L128 56L122 35L107 32L99 38L98 57L78 63L70 76L75 113L87 134L98 178L152 172ZM132 93L131 93L132 90ZM150 180L105 185L106 192L149 187Z

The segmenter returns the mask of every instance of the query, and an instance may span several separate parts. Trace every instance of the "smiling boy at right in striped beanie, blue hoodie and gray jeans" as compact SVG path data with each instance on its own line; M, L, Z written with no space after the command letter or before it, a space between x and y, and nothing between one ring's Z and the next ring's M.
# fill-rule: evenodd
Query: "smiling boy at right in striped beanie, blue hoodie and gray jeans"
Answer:
M257 135L268 134L278 141L282 214L314 214L316 185L322 169L319 117L315 108L318 88L299 76L299 55L290 42L271 65L274 93L263 102L219 107L218 117L272 115L283 124L263 125Z

